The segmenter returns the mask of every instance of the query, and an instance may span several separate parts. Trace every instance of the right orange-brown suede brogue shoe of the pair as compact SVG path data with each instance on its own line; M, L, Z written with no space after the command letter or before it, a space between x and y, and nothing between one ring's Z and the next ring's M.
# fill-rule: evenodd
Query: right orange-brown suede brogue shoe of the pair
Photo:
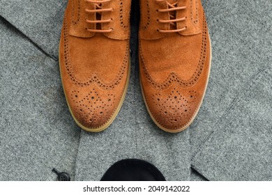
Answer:
M141 0L139 64L153 121L166 132L185 130L202 104L211 66L200 0Z

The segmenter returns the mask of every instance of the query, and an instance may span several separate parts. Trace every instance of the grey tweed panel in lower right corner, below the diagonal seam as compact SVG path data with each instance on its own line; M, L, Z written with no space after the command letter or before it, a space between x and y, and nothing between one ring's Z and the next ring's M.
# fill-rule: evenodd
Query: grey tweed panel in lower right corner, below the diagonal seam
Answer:
M245 84L192 160L209 180L272 180L272 68Z

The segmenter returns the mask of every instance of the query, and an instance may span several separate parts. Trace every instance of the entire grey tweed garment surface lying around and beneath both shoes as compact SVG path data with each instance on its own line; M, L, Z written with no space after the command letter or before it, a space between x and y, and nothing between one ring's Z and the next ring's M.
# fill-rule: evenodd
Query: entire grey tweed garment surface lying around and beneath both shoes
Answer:
M126 100L114 123L92 134L74 123L59 77L66 1L0 0L0 180L55 180L53 167L100 180L124 158L151 162L167 180L272 180L272 1L202 2L213 61L192 125L163 132L145 109L133 0Z

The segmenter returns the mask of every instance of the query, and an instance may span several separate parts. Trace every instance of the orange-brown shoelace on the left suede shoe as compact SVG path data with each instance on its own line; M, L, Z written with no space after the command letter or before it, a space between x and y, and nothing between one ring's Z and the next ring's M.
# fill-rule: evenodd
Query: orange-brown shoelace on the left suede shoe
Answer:
M102 3L106 3L109 2L111 0L86 0L89 3L94 3L95 9L94 10L89 10L89 9L85 9L85 11L87 13L103 13L103 12L112 12L114 9L113 8L107 8L107 9L103 9L102 8ZM97 18L97 17L96 17ZM100 19L100 17L99 17ZM86 22L91 23L91 24L102 24L102 23L108 23L108 22L112 22L112 18L108 19L108 20L86 20ZM96 25L97 26L97 25ZM91 32L91 33L110 33L113 29L86 29L87 31Z

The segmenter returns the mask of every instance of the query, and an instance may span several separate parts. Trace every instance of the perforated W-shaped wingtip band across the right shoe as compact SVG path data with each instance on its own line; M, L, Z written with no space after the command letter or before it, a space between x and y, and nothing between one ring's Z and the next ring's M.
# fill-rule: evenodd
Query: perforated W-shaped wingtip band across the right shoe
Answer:
M204 14L204 13L203 13ZM140 41L139 41L140 42ZM172 72L167 76L167 79L163 81L161 84L155 81L155 79L152 78L151 74L149 73L148 68L146 67L144 63L144 56L142 54L142 48L140 47L140 55L143 61L143 69L144 73L146 75L146 78L148 79L149 83L153 86L153 88L156 88L157 90L165 90L168 86L172 84L172 82L176 81L179 83L183 88L190 88L197 84L197 81L199 81L199 77L202 74L202 70L204 69L204 63L206 61L206 42L207 42L207 26L206 26L206 20L203 15L203 31L202 31L202 49L201 49L201 56L199 59L199 63L197 65L197 69L195 70L194 74L188 81L184 81L179 78L176 73Z

